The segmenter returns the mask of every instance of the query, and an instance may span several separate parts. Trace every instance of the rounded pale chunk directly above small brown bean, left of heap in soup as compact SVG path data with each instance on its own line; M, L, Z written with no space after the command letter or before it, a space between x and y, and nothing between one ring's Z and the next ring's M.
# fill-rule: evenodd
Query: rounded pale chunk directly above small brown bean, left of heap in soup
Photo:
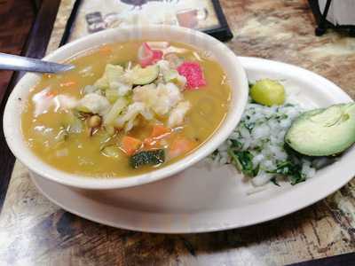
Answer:
M79 111L101 115L107 113L110 107L108 100L97 93L86 94L76 105L76 109Z

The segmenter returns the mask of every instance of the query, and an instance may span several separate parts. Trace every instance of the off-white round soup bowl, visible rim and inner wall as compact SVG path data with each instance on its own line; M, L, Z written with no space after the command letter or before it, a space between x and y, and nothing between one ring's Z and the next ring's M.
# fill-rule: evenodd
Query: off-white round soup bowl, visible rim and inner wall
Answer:
M60 171L40 160L30 151L20 129L21 110L28 98L29 89L39 81L39 74L26 74L16 85L4 111L4 135L12 153L38 176L43 176L59 184L82 189L115 189L147 184L162 178L173 176L185 168L212 153L218 145L232 133L241 120L241 115L248 101L248 80L240 61L224 43L215 38L183 27L124 27L114 28L88 35L73 43L59 48L45 57L45 60L62 62L76 54L97 47L103 43L118 43L130 40L162 40L168 42L187 43L202 51L211 52L223 66L231 88L231 106L219 129L209 140L194 153L170 166L157 169L147 174L112 179L78 176Z

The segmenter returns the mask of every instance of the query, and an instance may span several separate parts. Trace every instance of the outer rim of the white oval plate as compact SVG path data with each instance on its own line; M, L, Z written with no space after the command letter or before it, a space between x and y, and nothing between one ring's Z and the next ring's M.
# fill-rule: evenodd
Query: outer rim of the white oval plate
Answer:
M326 82L328 86L331 86L333 90L336 90L336 92L339 95L343 96L344 100L347 99L349 101L352 101L350 96L345 91L341 90L337 85L335 85L335 83L327 80L326 78L320 76L319 74L315 74L315 73L313 73L309 70L306 70L302 67L294 66L294 65L290 65L290 64L286 64L286 63L282 63L282 62L278 62L278 61L267 60L267 59L257 59L257 58L248 58L248 57L239 57L239 59L241 60L242 66L246 68L247 74L248 74L248 71L250 71L248 69L248 67L254 66L256 63L260 63L261 61L263 61L264 63L268 63L268 64L276 64L276 65L280 65L280 66L285 66L290 69L294 69L296 71L302 71L302 72L306 71L307 73L312 74L312 77L317 77L319 82ZM269 65L269 67L270 66L272 66L272 65ZM354 149L353 149L352 153L355 153L355 147L353 147L353 148ZM169 230L167 228L154 227L154 224L153 224L153 226L152 226L152 224L150 224L150 226L146 226L146 227L137 227L137 226L130 225L130 224L123 224L123 223L117 223L117 222L112 223L112 222L108 221L107 219L102 219L100 217L94 217L92 215L88 215L87 212L84 213L83 211L75 210L73 208L65 206L65 203L63 204L62 202L59 202L60 196L59 197L57 196L57 198L54 199L52 197L52 195L49 195L47 192L45 192L45 189L43 190L43 186L41 186L41 184L39 184L40 182L38 182L38 179L37 179L37 178L41 178L41 177L36 177L36 176L31 175L31 179L34 182L34 184L36 185L36 189L39 192L43 193L43 195L46 198L48 198L49 200L51 200L54 204L67 210L70 213L81 216L81 217L83 217L87 220L90 220L92 222L102 223L102 224L106 224L108 226L131 230L131 231L179 234L179 233L202 233L202 232L212 232L212 231L224 231L224 230L242 228L242 227L246 227L246 226L255 225L258 223L265 223L268 221L272 221L272 220L280 218L282 216L292 214L300 209L303 209L304 207L309 207L312 204L318 202L319 200L325 199L328 195L336 192L337 190L342 188L343 185L349 183L351 181L351 179L353 178L354 174L355 174L355 168L344 169L343 175L336 176L336 180L337 180L336 182L332 182L330 184L325 184L323 182L323 184L319 185L319 187L318 187L319 189L317 190L317 192L312 192L312 193L310 193L310 190L312 191L312 187L314 187L314 183L317 183L318 179L316 179L316 178L309 179L309 180L307 180L307 182L305 182L303 184L297 184L296 187L292 188L292 191L286 192L285 194L280 194L276 197L272 197L269 200L266 200L265 202L263 202L264 206L270 207L269 205L272 204L272 201L278 200L281 197L287 197L289 200L293 201L293 203L290 205L290 207L286 207L286 208L284 207L284 208L282 208L281 211L277 210L277 211L273 211L273 212L269 212L269 213L265 213L263 215L260 215L258 219L254 219L254 221L251 221L251 223L246 222L246 221L244 221L244 223L243 222L220 223L217 226L216 225L215 226L207 225L207 226L202 226L200 228L185 228L185 229L183 229L183 228L178 229L178 227L172 228L170 226ZM174 178L174 177L171 177L171 178ZM45 180L45 181L49 182L49 180ZM321 182L319 182L319 183L321 183ZM60 185L60 184L58 184L58 185ZM307 187L308 187L308 189L307 189ZM73 191L70 188L68 188L68 189ZM308 190L308 193L307 193L307 190ZM306 194L307 197L297 199L297 195L299 196L300 194L301 195ZM298 201L296 201L296 200L298 200ZM100 203L100 204L105 204L105 203ZM260 203L256 204L256 206L259 206L259 205L260 205ZM120 209L120 207L116 207L116 208ZM242 208L243 207L241 207L241 209ZM232 210L226 209L224 211L225 212L226 211L233 212L233 210L234 209L232 209ZM208 212L208 211L209 210L205 210L205 212ZM132 212L136 212L136 213L140 213L140 214L142 214L142 213L147 214L147 212L143 212L143 211L137 212L137 211L133 210ZM154 215L154 213L149 213L149 214ZM160 215L160 214L157 214L157 215Z

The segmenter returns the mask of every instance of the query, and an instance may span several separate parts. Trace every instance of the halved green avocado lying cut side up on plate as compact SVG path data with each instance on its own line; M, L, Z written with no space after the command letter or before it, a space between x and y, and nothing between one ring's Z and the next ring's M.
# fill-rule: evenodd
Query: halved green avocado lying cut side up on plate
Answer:
M288 129L285 142L309 156L343 153L355 142L355 104L340 104L300 115Z

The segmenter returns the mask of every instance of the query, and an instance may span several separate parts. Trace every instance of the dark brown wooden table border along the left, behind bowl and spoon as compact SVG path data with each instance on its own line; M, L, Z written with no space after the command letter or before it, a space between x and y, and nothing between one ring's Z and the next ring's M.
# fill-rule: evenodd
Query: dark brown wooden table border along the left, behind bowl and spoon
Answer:
M51 38L51 30L54 21L57 16L60 0L43 0L41 7L36 16L36 20L33 23L28 40L21 52L21 55L42 59L47 49L48 42ZM12 75L12 79L9 86L4 91L4 94L0 98L0 113L1 117L4 114L4 107L6 100L9 98L13 87L20 80L24 73L18 72ZM15 158L12 155L9 147L6 145L3 130L3 119L0 120L0 210L4 204L6 191L10 178L12 176L12 168L15 162Z

